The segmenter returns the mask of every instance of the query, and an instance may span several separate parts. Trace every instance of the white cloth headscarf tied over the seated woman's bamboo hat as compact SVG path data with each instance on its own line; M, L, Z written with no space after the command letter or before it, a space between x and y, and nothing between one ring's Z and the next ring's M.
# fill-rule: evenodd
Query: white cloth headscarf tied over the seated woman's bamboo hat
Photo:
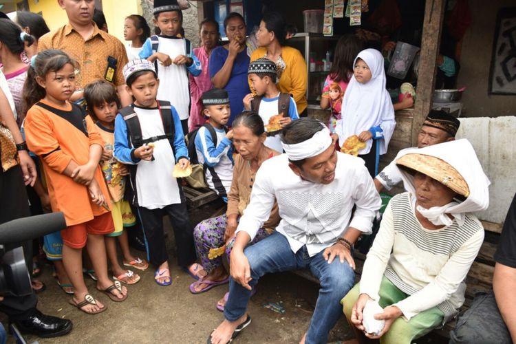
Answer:
M429 219L436 226L449 226L453 223L446 214L450 214L457 220L459 226L464 223L464 213L473 213L475 211L484 211L489 206L489 190L488 186L491 184L478 161L475 149L471 143L466 140L455 140L434 144L433 146L424 147L421 149L409 149L403 152L396 159L403 155L418 153L431 155L436 158L444 160L462 175L469 187L469 196L464 202L450 202L444 206L435 206L430 209L418 206L418 211L421 215ZM413 175L400 169L403 184L405 189L416 195L416 187L413 183Z

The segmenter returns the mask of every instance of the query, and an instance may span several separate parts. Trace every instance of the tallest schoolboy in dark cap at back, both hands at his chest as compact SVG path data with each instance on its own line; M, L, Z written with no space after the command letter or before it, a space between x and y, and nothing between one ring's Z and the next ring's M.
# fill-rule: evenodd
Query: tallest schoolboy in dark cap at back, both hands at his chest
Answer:
M177 0L154 0L154 24L159 34L145 41L140 58L154 63L164 82L158 88L158 99L167 100L178 110L184 133L188 133L190 106L188 71L193 76L202 72L191 43L182 36L183 14Z

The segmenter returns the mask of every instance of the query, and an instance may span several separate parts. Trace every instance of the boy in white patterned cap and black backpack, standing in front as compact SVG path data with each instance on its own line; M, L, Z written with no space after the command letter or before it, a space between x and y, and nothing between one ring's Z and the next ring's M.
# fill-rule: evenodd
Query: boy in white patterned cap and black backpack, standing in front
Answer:
M129 166L131 200L138 206L147 257L157 267L154 279L160 286L172 283L163 233L165 214L173 226L178 265L192 277L201 277L204 270L195 263L186 199L172 175L176 162L181 169L190 165L178 112L169 102L156 100L160 80L151 62L131 61L123 74L135 101L116 116L114 155Z

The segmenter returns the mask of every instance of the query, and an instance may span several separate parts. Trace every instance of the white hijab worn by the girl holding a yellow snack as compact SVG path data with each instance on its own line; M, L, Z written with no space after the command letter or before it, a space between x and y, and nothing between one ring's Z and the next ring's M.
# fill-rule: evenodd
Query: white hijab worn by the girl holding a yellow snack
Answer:
M344 93L342 105L342 120L336 127L338 140L341 146L352 135L360 135L362 131L372 127L383 130L383 138L380 139L380 154L387 152L387 146L391 140L396 121L394 120L394 107L392 106L389 92L385 89L385 70L383 56L375 49L366 49L356 56L361 58L371 70L371 80L367 83L359 83L353 75ZM373 140L366 142L366 147L358 154L367 154L371 150Z

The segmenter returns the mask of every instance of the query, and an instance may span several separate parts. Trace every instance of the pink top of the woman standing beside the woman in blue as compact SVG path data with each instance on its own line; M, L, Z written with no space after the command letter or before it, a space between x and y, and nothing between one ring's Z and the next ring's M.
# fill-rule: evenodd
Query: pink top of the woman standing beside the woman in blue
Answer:
M191 94L191 107L190 107L190 118L188 120L188 128L189 131L197 128L197 126L203 125L206 120L204 116L201 114L202 111L202 103L201 96L204 92L211 89L213 85L211 84L210 74L208 71L208 53L204 47L196 47L193 50L193 53L202 65L202 72L199 76L192 76L189 74L190 78L190 94Z

